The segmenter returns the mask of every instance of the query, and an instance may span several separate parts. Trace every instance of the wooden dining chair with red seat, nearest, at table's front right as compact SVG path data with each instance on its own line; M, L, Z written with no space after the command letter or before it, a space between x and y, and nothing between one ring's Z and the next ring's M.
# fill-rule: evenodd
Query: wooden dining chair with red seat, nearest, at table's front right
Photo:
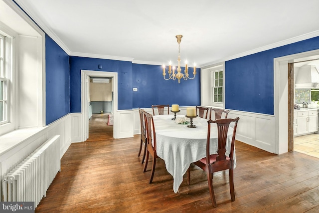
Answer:
M237 123L239 118L231 119L217 119L211 120L209 119L208 122L208 130L207 130L207 139L206 139L206 157L196 161L195 164L202 170L207 173L208 179L208 187L211 202L214 207L217 207L216 199L214 195L213 189L213 177L214 172L229 170L229 188L230 188L230 197L232 201L235 201L235 192L234 192L234 145L235 145L235 135L237 129ZM228 128L231 122L234 122L233 127L233 135L231 140L230 146L230 154L229 156L225 155L226 152L226 143L227 143L227 133ZM217 134L218 134L218 150L217 154L210 154L210 126L211 124L217 124ZM229 150L229 148L228 148ZM190 182L190 169L187 170L187 183L189 185Z

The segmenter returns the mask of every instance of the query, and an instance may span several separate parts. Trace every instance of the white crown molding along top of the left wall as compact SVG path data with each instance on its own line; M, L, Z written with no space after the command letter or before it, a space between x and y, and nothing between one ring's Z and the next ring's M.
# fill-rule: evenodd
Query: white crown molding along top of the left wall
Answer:
M7 0L6 0L7 1ZM12 1L12 0L10 0ZM68 55L70 55L69 48L62 42L62 40L48 27L48 24L43 22L37 15L35 15L31 10L29 10L24 4L23 0L14 0L16 4L26 13L26 15L34 22L40 29L50 36Z

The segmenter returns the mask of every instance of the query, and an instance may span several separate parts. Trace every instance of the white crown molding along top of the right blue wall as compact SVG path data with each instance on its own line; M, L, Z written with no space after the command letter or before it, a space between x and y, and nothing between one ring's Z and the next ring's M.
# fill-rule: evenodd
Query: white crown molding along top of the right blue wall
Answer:
M303 34L303 35L300 35L300 36L296 36L296 37L293 37L293 38L289 38L289 39L286 39L286 40L283 40L283 41L279 41L279 42L276 42L276 43L273 43L273 44L269 44L269 45L266 45L266 46L262 46L262 47L259 47L259 48L256 48L256 49L252 49L252 50L249 50L249 51L246 51L246 52L242 52L242 53L239 53L239 54L236 54L236 55L232 55L232 56L220 59L220 60L216 60L216 61L213 61L213 62L205 63L205 64L202 64L201 67L206 67L206 66L210 66L210 65L213 65L213 64L216 64L216 63L223 62L223 61L229 61L229 60L232 60L232 59L235 59L235 58L244 57L244 56L247 56L247 55L255 54L255 53L258 53L258 52L262 52L262 51L273 49L273 48L280 47L280 46L285 46L287 44L296 43L298 41L307 40L309 38L314 38L314 37L317 37L317 36L319 36L319 30L316 30L316 31L313 31L313 32L309 32L309 33L306 33L306 34Z

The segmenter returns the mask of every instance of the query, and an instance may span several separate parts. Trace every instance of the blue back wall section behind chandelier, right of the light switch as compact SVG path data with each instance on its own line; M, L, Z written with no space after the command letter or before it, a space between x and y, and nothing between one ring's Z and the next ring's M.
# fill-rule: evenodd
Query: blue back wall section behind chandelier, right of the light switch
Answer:
M183 72L184 67L181 68ZM133 108L149 108L152 104L200 105L200 69L196 72L195 79L181 79L178 83L178 80L164 80L162 66L133 64L132 86L138 88L133 92ZM193 76L192 71L189 75Z

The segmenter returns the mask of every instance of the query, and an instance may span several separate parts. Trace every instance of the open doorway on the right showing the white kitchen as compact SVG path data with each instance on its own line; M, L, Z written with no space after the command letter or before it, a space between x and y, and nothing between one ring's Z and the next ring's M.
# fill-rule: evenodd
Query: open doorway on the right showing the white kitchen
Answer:
M319 55L299 58L294 70L294 151L319 158Z

